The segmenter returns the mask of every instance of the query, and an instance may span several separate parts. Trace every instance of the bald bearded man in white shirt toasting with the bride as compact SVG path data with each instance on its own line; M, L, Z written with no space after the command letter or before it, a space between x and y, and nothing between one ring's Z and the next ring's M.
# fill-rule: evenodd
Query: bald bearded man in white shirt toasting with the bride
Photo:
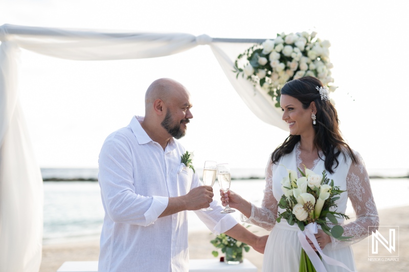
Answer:
M158 79L145 94L145 116L111 133L99 155L98 181L105 210L98 271L188 271L187 211L215 234L226 233L264 252L267 236L247 231L181 164L186 152L175 139L193 118L188 90ZM213 211L201 208L212 207Z

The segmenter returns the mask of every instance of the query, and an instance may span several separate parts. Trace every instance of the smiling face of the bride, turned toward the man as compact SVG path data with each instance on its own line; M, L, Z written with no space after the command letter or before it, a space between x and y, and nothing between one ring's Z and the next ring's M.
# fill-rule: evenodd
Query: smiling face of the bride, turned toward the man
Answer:
M291 135L307 136L314 133L311 105L304 109L303 104L297 98L282 94L280 106L283 111L283 120L286 121Z

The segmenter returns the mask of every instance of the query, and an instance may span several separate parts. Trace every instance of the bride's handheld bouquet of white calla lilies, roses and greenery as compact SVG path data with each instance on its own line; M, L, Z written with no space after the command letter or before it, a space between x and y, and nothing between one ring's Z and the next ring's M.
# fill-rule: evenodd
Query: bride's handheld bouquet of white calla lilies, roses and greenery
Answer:
M316 242L314 233L317 231L317 225L320 225L322 230L338 240L349 239L351 237L342 236L344 229L338 225L338 218L349 219L349 216L344 213L330 211L331 207L337 207L335 201L339 199L339 195L344 192L339 189L339 186L334 186L334 181L329 180L326 176L326 171L322 175L317 175L308 168L304 172L298 169L302 177L297 179L297 172L288 170L288 176L281 181L281 188L284 194L281 197L278 206L285 211L279 213L277 222L286 219L289 225L297 224L303 235L299 238L303 245L302 239L305 236L310 240L315 240L315 248L319 248ZM328 224L331 223L332 227ZM308 232L306 234L306 231ZM310 251L311 252L311 251ZM319 250L321 252L321 249ZM326 257L326 256L325 256ZM303 249L301 251L300 272L315 271L309 256Z

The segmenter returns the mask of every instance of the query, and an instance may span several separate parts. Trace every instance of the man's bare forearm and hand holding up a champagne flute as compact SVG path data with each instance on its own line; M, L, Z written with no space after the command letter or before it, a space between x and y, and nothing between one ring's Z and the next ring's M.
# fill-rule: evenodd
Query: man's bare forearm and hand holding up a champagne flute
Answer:
M187 194L177 197L169 197L168 206L159 217L171 215L185 210L199 210L207 208L213 201L213 188L199 186L190 190Z

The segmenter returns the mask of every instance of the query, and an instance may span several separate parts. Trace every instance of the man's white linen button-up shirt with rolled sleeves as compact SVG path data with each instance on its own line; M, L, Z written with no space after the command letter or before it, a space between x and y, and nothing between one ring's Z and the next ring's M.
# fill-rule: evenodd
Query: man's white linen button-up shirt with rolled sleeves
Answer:
M98 271L188 271L187 211L158 218L169 197L202 185L198 175L180 162L186 151L170 139L165 150L154 142L134 116L125 128L110 134L99 155L98 181L105 210ZM215 234L237 224L223 207L195 211Z

